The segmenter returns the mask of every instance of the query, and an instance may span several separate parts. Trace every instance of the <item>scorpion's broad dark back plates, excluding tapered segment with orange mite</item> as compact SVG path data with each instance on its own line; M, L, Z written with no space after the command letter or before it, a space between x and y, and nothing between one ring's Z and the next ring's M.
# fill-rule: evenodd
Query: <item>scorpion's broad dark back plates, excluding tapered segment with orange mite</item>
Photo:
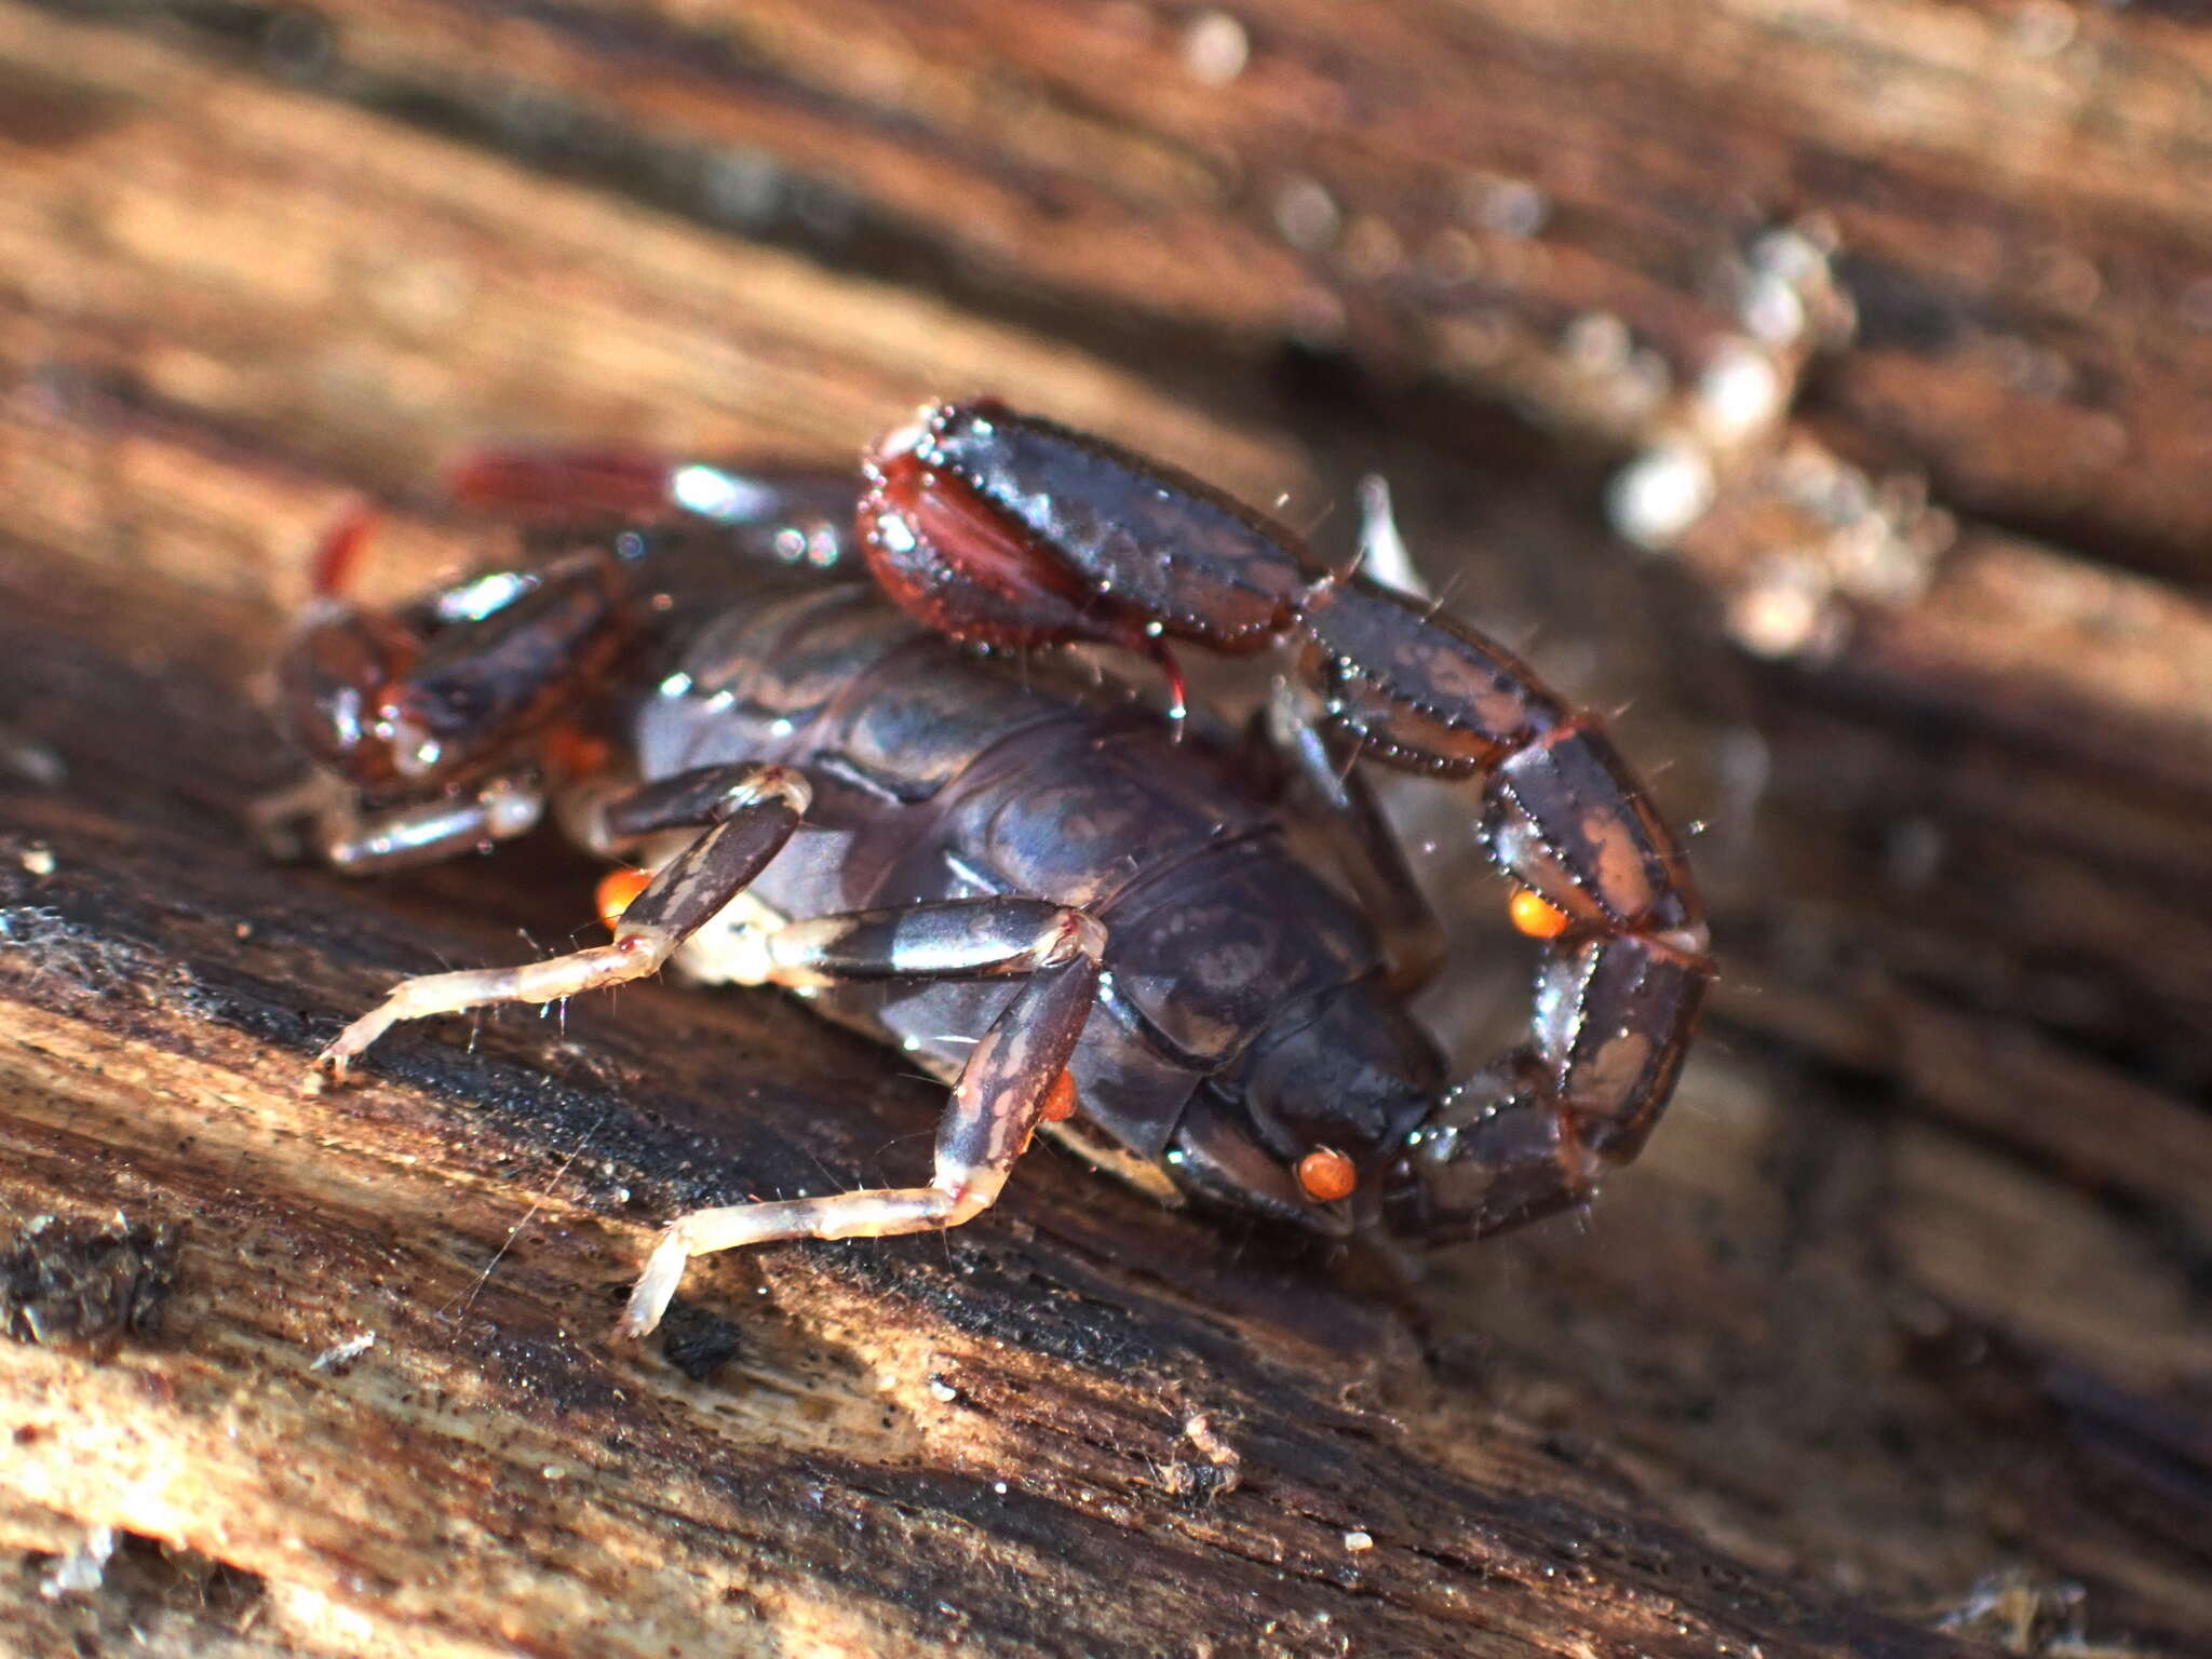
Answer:
M772 759L816 785L754 914L1020 894L1106 922L1071 1073L1082 1113L1141 1159L1281 1011L1380 969L1365 916L1292 854L1223 748L1068 677L1024 684L872 588L816 582L723 615L661 684L639 714L646 776ZM951 1075L1013 993L856 984L816 1006Z

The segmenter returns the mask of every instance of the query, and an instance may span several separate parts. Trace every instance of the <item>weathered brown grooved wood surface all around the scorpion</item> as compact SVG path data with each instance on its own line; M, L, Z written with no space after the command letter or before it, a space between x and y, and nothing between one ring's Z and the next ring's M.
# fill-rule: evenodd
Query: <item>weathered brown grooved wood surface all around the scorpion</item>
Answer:
M2183 4L0 7L0 1186L184 1228L159 1332L0 1345L11 1630L1940 1652L2024 1573L2203 1648L2208 71ZM1776 226L1796 403L1730 425ZM776 998L296 1091L588 878L250 856L314 526L394 500L396 591L487 434L821 458L978 385L1301 522L1385 467L1708 825L1681 1104L1586 1230L1442 1261L1427 1354L1051 1157L942 1243L701 1272L706 1380L613 1347L659 1217L920 1157L933 1091ZM1606 471L1683 445L1717 504L1644 560ZM1955 540L1814 522L1858 467ZM1486 914L1460 803L1400 805Z

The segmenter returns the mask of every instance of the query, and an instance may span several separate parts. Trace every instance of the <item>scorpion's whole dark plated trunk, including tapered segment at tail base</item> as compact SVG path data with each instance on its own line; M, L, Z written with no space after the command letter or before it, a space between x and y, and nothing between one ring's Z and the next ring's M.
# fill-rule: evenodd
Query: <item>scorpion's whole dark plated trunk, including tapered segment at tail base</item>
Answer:
M814 790L745 900L677 953L697 978L748 978L743 940L790 918L1042 898L1106 929L1068 1060L1082 1115L1057 1126L1095 1130L1093 1161L1334 1232L1349 1214L1312 1203L1281 1161L1307 1150L1279 1121L1285 1086L1365 1119L1360 1139L1427 1115L1442 1062L1383 984L1374 927L1296 856L1270 779L1234 748L958 653L858 584L763 584L661 684L633 717L646 779L772 761ZM814 995L956 1077L1013 987L889 978Z

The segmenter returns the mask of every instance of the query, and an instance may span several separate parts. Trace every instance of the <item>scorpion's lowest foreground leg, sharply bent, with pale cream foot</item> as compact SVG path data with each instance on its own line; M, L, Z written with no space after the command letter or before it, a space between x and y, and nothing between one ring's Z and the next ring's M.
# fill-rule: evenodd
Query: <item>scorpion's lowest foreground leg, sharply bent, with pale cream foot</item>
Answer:
M1051 1115L1068 1057L1097 1000L1106 929L1035 898L982 898L852 911L765 933L759 980L827 984L869 978L991 978L1029 982L991 1022L938 1124L929 1186L865 1188L695 1210L653 1250L622 1336L661 1323L692 1256L776 1239L876 1239L958 1228L989 1210L1037 1124Z

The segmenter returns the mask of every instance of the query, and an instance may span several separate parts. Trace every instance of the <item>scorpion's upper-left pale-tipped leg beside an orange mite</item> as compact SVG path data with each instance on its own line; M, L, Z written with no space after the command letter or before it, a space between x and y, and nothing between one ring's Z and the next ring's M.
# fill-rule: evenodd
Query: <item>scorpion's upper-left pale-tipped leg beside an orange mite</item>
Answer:
M792 838L807 810L807 785L781 765L717 765L684 772L619 801L604 814L619 834L706 825L624 909L611 945L507 969L465 969L403 980L314 1057L343 1082L363 1053L400 1020L460 1013L487 1002L557 1002L624 980L657 973L668 956L745 885Z

